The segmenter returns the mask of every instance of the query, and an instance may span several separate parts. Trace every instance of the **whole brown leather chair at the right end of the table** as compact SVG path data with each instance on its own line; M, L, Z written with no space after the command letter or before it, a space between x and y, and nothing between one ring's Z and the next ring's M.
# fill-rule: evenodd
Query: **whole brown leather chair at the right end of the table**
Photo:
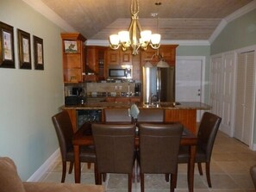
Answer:
M215 143L215 137L219 130L221 121L221 117L209 112L205 112L197 133L197 154L195 162L197 163L200 175L203 175L202 163L205 163L206 177L209 188L211 188L209 174L210 158ZM188 163L189 158L189 147L181 146L178 153L178 163Z

